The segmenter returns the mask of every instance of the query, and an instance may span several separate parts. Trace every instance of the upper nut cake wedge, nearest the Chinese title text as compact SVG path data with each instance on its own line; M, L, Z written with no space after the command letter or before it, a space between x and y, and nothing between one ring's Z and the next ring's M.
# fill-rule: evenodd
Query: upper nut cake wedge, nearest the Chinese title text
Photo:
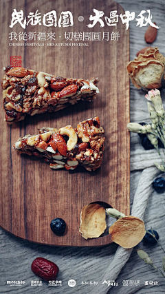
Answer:
M23 120L26 114L57 112L79 100L92 101L96 93L96 78L63 78L23 67L4 67L1 83L3 107L8 123Z

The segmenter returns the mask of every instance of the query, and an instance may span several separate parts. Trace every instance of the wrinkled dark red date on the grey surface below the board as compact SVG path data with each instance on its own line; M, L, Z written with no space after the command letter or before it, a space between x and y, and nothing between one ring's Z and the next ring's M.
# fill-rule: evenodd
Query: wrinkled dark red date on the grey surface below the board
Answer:
M50 262L50 260L45 258L36 258L32 262L31 269L35 275L38 275L45 281L56 280L59 271L58 266L54 262Z

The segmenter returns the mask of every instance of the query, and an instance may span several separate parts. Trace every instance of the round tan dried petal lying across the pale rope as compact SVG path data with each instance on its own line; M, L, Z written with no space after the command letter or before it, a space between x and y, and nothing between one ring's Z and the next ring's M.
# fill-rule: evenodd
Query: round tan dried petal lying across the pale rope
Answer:
M109 228L113 242L124 248L136 246L146 234L144 222L135 216L120 218Z

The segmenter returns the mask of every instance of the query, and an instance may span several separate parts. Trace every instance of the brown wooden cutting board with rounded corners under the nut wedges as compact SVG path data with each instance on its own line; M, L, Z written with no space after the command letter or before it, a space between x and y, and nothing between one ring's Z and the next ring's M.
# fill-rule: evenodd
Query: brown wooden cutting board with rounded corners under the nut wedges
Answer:
M56 10L57 19L62 11L71 11L74 26L68 28L28 25L26 30L17 23L9 28L13 9L29 12L39 10L41 15ZM63 246L98 246L109 244L110 235L85 240L79 232L80 211L91 202L104 202L129 215L129 158L130 141L126 123L129 123L129 30L119 18L117 26L104 28L96 23L87 28L93 9L102 10L109 17L110 11L124 10L113 1L100 0L50 0L50 1L2 1L1 0L1 77L2 68L10 65L10 56L21 56L22 66L69 78L99 78L94 102L81 101L64 111L53 114L27 116L21 123L8 125L3 121L1 98L1 227L23 239L43 244ZM78 21L83 16L84 21ZM104 20L104 17L102 17ZM55 32L55 41L10 41L9 33ZM65 32L100 32L100 41L66 41ZM103 32L109 32L109 41L102 40ZM111 32L119 32L120 38L111 41ZM104 34L106 35L106 34ZM59 37L61 36L61 38ZM9 43L24 43L10 46ZM28 46L26 43L44 43L44 46ZM47 43L71 43L70 46L47 46ZM78 46L77 43L87 43ZM2 96L1 96L2 97ZM40 127L76 127L78 122L99 116L106 137L104 158L100 169L88 172L78 168L73 172L52 170L45 162L32 156L19 155L12 145L25 134L37 134ZM50 229L54 218L63 218L67 230L62 237Z

